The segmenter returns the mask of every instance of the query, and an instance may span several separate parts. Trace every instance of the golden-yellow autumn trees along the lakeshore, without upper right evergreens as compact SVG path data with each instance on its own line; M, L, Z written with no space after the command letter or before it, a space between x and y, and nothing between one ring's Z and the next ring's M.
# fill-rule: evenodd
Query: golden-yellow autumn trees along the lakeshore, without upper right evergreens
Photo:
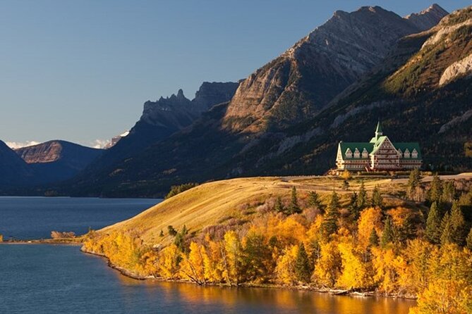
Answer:
M322 232L326 214L284 215L264 206L256 218L214 226L217 232L191 229L179 246L169 244L171 236L143 244L132 231L90 232L83 249L140 276L376 291L418 296L411 313L472 313L469 249L428 241L425 215L413 206L364 208L354 217L342 207L346 199L339 203L337 228L329 237ZM382 242L387 225L391 239Z

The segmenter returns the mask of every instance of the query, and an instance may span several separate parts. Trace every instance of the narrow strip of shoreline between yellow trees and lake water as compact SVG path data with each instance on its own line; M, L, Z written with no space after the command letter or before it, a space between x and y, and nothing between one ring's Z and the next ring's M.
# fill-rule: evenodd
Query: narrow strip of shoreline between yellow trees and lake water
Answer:
M418 299L416 296L408 296L408 295L396 295L396 294L380 294L377 291L355 291L353 289L329 289L323 287L312 287L308 285L300 285L300 286L284 286L282 284L238 284L237 286L229 285L229 284L217 284L217 283L205 283L205 284L198 284L191 280L167 280L163 277L154 277L154 276L141 276L136 274L135 272L131 272L126 268L121 268L112 264L107 256L101 253L95 253L90 251L84 251L80 249L85 254L90 254L92 256L97 256L99 258L104 259L107 262L109 268L120 272L121 275L131 278L133 280L141 280L141 281L154 281L154 282L174 282L178 284L195 284L200 287L225 287L225 288L263 288L263 289L288 289L288 290L298 290L298 291L313 291L321 294L330 294L331 296L358 296L363 298L389 298L389 299L403 299L409 301L416 301Z

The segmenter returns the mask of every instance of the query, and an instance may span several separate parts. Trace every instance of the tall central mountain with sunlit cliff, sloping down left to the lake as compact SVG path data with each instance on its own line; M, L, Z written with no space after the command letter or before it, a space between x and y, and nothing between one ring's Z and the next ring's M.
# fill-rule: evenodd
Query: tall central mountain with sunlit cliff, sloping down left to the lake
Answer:
M424 20L436 16L437 23L436 7L418 16ZM343 120L346 113L333 99L346 88L373 87L401 68L428 37L440 32L438 28L402 37L423 28L380 7L364 7L353 13L337 11L325 25L241 82L229 103L214 106L189 127L114 168L76 181L71 193L159 196L171 184L242 175L325 172L334 165L337 142L370 138L370 129L375 126L370 123L379 118L375 103L363 108L363 104L343 98L342 106L352 105L349 114L359 110L375 115L370 115L371 120L363 116ZM361 93L369 92L367 87ZM398 118L390 120L390 115L382 115L387 130ZM400 120L395 121L401 125ZM416 125L414 130L420 127ZM406 130L399 133L398 140L421 142L416 139L418 134Z

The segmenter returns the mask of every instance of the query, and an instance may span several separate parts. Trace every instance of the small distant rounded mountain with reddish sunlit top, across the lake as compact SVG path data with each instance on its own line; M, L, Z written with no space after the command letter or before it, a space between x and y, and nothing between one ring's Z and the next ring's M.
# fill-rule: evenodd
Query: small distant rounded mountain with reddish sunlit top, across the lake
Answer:
M101 153L71 142L54 140L16 149L16 154L35 172L35 182L50 183L70 179Z

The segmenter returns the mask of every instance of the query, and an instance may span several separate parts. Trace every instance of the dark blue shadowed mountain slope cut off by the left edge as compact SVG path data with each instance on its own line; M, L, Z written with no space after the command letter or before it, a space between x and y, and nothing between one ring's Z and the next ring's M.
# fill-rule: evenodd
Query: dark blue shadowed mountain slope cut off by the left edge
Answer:
M0 187L16 187L34 178L28 164L0 141Z

